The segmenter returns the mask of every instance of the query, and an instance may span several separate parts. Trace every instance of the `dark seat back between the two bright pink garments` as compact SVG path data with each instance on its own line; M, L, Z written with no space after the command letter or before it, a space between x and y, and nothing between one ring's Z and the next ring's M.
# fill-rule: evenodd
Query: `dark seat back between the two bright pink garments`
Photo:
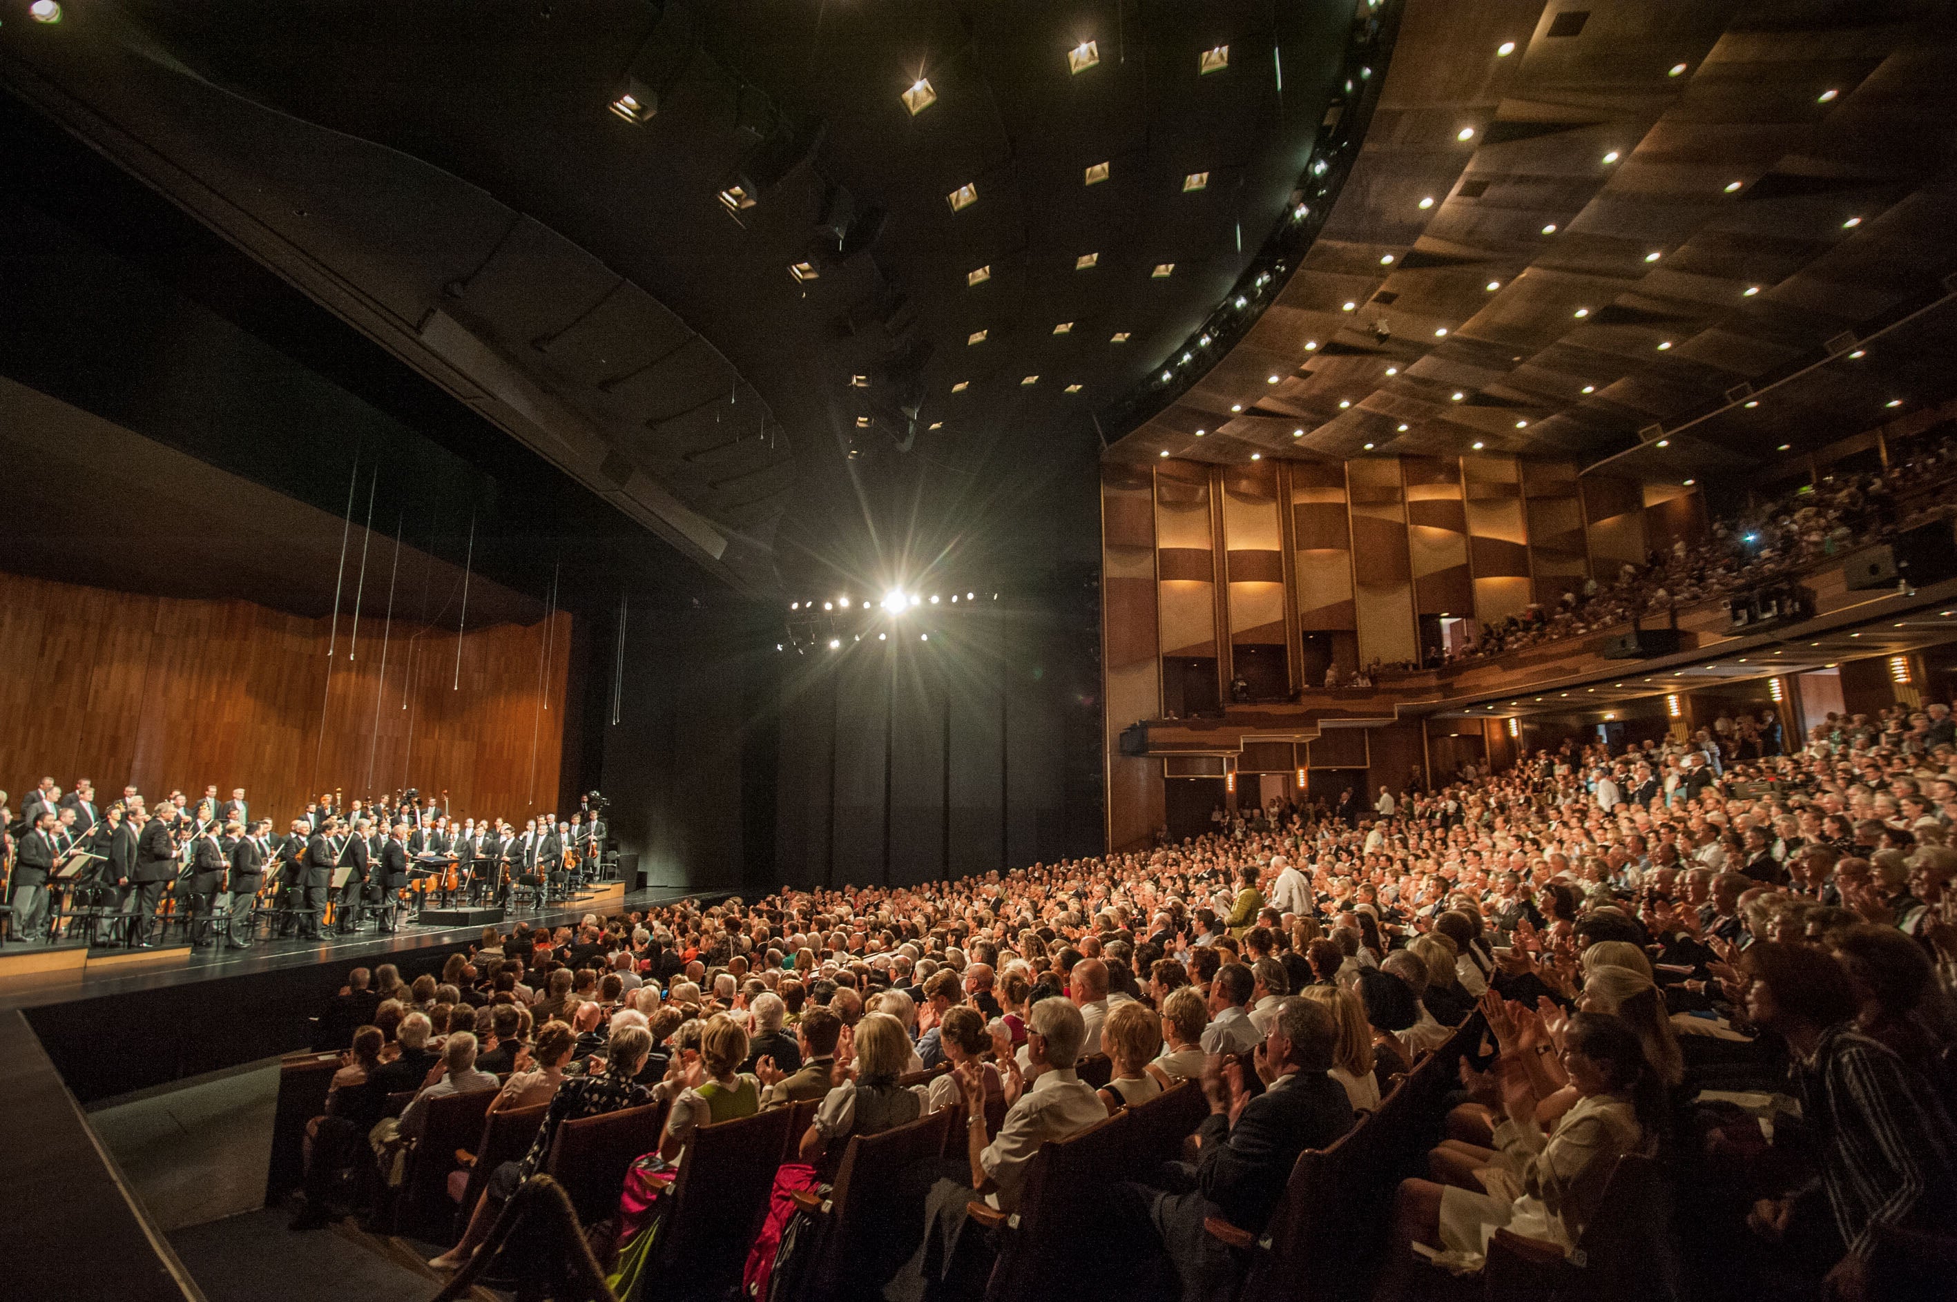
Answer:
M738 1282L793 1120L789 1108L771 1108L693 1132L648 1271L685 1279L687 1290L699 1294Z

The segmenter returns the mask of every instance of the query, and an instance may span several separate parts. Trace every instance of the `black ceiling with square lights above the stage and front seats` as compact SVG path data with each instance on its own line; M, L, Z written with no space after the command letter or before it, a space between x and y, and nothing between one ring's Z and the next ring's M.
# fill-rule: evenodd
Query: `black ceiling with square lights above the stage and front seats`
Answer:
M0 67L765 593L926 566L1010 580L1076 533L1092 550L1090 523L1051 519L1092 501L1092 415L1288 209L1352 18L1348 0L125 0L6 22ZM1072 72L1084 41L1096 61ZM920 76L935 98L912 114ZM609 112L628 88L658 112ZM728 211L732 186L757 202Z

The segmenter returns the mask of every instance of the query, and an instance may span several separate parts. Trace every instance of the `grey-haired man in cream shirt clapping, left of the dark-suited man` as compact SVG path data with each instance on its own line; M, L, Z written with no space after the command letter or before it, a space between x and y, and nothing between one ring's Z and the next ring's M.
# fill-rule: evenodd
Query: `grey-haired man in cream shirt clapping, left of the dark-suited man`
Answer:
M1012 1044L1004 1040L1004 1032L994 1040L1004 1063L1008 1108L990 1143L984 1132L984 1069L977 1059L959 1067L957 1081L965 1094L967 1118L965 1161L949 1169L961 1169L965 1179L939 1179L932 1186L924 1204L924 1243L885 1286L883 1296L888 1302L924 1302L939 1288L949 1296L963 1296L959 1282L977 1284L971 1292L982 1290L984 1279L973 1253L959 1253L973 1192L984 1194L988 1206L1012 1212L1020 1200L1025 1163L1041 1143L1065 1139L1108 1118L1108 1108L1094 1087L1074 1073L1074 1061L1086 1040L1080 1010L1065 999L1041 999L1027 1012L1025 1032L1031 1061L1025 1075L1012 1061ZM1333 1085L1333 1089L1344 1094L1343 1087ZM959 1282L953 1282L955 1275ZM967 1275L973 1279L967 1280Z

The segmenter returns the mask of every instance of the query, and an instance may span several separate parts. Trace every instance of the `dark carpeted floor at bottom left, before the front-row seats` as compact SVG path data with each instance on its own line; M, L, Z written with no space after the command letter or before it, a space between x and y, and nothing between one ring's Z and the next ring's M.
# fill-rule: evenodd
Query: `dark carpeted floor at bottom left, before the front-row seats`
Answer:
M364 1235L350 1224L294 1233L290 1220L292 1212L245 1212L178 1230L170 1245L209 1302L427 1302L446 1280L407 1239ZM472 1296L495 1298L479 1288Z

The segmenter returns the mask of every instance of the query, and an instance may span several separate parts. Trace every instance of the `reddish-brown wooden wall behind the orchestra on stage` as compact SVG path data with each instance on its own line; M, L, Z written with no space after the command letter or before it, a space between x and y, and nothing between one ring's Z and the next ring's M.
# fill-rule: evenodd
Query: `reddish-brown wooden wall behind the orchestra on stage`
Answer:
M331 617L0 574L0 787L14 811L43 775L102 803L245 787L280 828L331 789L446 787L458 816L519 826L550 811L571 617L464 632L460 689L454 630L395 619L384 675L384 627L364 615L356 646L350 615L335 640Z

